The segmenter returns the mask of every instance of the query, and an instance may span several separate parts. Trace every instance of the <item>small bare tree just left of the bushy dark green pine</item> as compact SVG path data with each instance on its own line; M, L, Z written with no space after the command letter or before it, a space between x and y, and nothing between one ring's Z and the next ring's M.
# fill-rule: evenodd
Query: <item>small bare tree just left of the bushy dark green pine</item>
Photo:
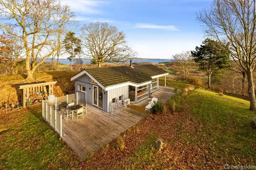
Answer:
M187 79L189 72L193 69L195 62L194 57L192 57L190 51L185 51L182 53L178 53L175 55L172 55L173 59L178 62L178 65L181 68L182 78Z

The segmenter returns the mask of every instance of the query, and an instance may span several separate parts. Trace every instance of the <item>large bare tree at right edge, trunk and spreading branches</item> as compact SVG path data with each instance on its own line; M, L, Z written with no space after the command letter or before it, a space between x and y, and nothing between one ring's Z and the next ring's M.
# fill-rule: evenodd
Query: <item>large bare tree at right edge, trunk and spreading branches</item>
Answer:
M255 0L213 0L197 19L206 26L208 36L230 42L230 53L238 60L248 78L250 110L256 111L253 71L256 62L256 6Z

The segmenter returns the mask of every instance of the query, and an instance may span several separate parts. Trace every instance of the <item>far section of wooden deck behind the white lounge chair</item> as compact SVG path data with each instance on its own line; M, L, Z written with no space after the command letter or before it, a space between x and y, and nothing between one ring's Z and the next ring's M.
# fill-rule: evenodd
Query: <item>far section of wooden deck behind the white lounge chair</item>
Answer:
M159 86L158 91L153 92L152 96L156 97L158 101L165 103L167 102L172 95L174 95L174 88L171 87L164 87L164 86ZM136 103L134 105L138 105L140 107L145 107L148 105L148 102L151 101L151 98L145 99L143 101L140 101L139 103Z

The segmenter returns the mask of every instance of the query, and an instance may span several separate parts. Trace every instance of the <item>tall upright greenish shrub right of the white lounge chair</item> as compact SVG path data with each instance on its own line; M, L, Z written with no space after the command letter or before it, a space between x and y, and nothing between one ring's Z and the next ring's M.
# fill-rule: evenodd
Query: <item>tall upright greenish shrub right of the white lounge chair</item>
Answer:
M184 95L181 95L177 89L175 89L174 96L169 99L169 108L172 112L179 112L183 103L184 103Z

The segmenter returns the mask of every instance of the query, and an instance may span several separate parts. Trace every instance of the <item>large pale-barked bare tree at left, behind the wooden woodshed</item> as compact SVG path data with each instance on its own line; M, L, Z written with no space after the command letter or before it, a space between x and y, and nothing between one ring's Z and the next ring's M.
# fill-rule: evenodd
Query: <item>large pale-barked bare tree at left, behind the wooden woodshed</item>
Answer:
M22 40L26 50L26 81L33 81L33 73L44 59L58 48L49 50L59 32L56 17L62 6L56 0L1 0L0 28ZM7 22L8 24L2 24ZM11 28L20 30L17 34Z

